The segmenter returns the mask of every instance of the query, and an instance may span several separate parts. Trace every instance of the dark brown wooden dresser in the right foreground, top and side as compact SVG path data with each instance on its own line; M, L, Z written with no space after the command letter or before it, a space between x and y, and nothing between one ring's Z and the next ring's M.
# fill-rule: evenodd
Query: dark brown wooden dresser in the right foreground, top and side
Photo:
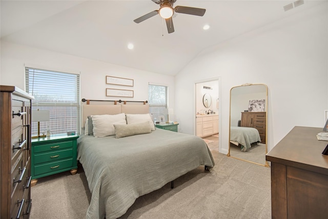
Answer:
M327 218L327 141L322 128L294 127L267 155L271 162L272 218Z

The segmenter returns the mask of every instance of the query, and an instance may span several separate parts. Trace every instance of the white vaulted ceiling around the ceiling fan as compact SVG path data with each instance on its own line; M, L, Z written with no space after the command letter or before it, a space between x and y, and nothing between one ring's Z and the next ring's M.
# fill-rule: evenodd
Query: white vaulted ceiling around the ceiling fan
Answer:
M201 51L324 1L284 11L293 1L183 1L175 6L205 8L204 16L175 13L175 32L145 1L3 1L1 40L95 59L140 70L175 75ZM203 30L204 25L210 29ZM134 49L127 48L128 43Z

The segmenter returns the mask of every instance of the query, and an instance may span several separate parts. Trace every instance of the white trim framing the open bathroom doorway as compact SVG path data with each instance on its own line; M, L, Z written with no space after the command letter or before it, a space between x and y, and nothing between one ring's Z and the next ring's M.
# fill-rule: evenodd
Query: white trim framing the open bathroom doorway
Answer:
M211 77L211 78L206 78L206 79L201 79L201 80L197 80L194 82L194 98L193 98L193 101L194 101L194 115L197 114L197 110L196 110L196 84L200 84L200 83L204 83L204 82L213 82L213 81L217 81L218 82L218 104L219 104L219 107L218 107L218 116L219 116L219 123L218 123L218 130L219 130L219 152L221 152L221 146L222 146L222 142L221 142L221 76L218 76L218 77ZM197 127L197 124L196 124L196 116L194 116L194 135L196 135L196 127Z

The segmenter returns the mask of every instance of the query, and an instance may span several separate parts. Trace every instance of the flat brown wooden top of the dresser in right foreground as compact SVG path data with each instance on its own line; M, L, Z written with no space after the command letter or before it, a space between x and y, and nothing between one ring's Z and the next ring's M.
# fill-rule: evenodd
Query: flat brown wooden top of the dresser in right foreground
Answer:
M295 126L265 156L267 161L328 175L328 155L322 151L327 141L317 140L322 128Z

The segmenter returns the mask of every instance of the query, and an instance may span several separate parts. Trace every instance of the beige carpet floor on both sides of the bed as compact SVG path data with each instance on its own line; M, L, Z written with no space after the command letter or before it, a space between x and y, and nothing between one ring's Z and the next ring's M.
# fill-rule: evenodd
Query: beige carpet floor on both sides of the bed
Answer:
M211 172L199 167L137 198L121 218L271 218L270 168L212 151ZM30 218L85 218L90 191L82 168L44 177L31 188Z

